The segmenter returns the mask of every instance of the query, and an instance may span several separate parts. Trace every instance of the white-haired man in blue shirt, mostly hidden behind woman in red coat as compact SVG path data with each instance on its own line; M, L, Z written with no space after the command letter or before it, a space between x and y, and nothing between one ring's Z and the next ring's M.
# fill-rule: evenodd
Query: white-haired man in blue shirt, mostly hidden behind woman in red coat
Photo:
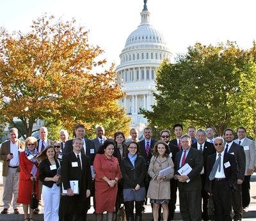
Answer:
M38 146L36 149L38 150L38 155L46 148L48 145L52 145L53 141L47 138L48 136L48 130L45 126L42 126L39 129L39 139L37 140ZM38 183L38 208L34 210L35 214L38 214L40 210L42 209L42 182L39 181Z

